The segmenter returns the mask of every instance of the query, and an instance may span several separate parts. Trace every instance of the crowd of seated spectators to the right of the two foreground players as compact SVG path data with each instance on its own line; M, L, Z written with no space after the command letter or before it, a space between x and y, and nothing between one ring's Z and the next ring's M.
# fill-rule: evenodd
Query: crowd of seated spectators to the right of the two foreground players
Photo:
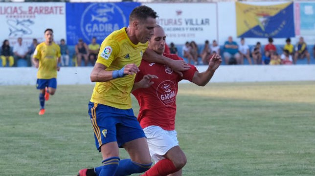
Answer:
M176 48L174 43L171 43L172 48ZM176 51L176 49L174 49ZM224 58L226 65L232 64L244 64L244 60L247 60L249 65L277 65L277 64L296 64L298 59L307 59L307 63L311 63L311 54L308 51L307 44L303 37L299 38L299 41L294 46L291 44L291 39L285 40L285 43L281 49L273 44L273 39L268 38L268 43L262 46L261 42L257 42L254 46L249 46L244 38L240 39L240 42L233 40L231 36L225 41L222 52L220 46L216 40L213 40L212 44L209 40L205 40L203 49L198 51L198 46L195 41L187 41L182 47L182 57L187 59L189 64L204 64L209 63L209 59L215 53L221 54ZM313 48L313 54L315 59L315 45ZM193 62L193 63L191 63Z

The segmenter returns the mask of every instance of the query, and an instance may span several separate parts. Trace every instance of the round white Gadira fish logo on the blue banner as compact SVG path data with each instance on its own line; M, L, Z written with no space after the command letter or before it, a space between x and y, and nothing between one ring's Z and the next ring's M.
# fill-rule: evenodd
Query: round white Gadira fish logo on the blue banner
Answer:
M128 26L123 11L114 3L91 3L83 12L80 28L84 38L103 40L104 36Z

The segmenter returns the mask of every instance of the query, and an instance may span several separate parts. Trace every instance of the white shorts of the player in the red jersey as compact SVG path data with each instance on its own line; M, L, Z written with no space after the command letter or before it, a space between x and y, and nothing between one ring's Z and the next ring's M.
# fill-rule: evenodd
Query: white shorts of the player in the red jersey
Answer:
M150 155L155 162L164 159L163 155L179 145L176 130L167 131L159 126L148 126L143 131L147 137Z

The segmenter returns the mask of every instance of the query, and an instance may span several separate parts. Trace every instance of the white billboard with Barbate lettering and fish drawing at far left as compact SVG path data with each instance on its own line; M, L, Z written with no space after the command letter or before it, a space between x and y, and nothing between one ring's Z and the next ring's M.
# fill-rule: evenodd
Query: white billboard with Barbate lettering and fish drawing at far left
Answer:
M51 28L55 41L66 38L66 3L1 3L0 6L0 41L9 39L10 45L22 37L30 45L32 39L45 40L44 31Z

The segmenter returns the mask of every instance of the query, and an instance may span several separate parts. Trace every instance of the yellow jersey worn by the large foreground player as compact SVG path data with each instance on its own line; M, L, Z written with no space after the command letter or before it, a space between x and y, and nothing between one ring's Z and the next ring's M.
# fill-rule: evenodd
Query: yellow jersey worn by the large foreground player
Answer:
M129 63L139 66L147 46L148 42L133 44L124 27L104 39L96 63L105 65L108 71L120 70ZM127 75L107 82L96 82L90 101L118 109L130 109L134 80L135 75Z

